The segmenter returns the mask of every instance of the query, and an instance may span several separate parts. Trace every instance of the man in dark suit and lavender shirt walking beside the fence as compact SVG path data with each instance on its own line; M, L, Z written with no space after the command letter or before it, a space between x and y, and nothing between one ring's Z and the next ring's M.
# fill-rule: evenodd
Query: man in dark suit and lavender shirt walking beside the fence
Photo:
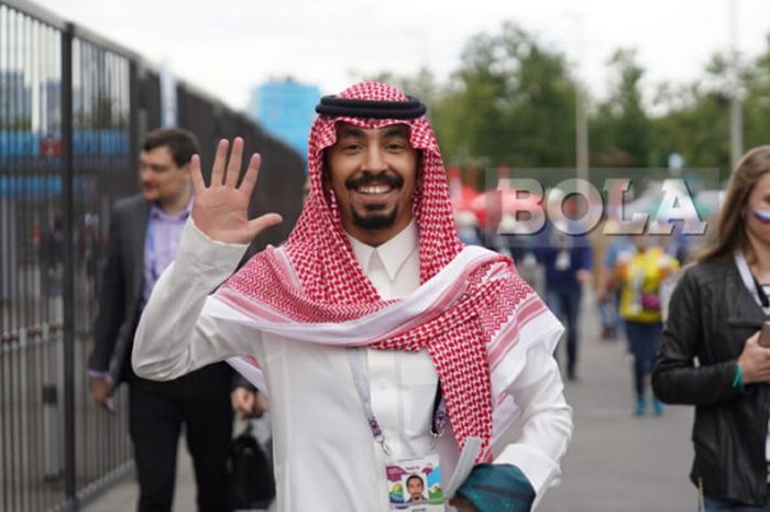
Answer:
M190 157L199 153L186 130L155 130L142 144L141 194L116 203L110 249L89 359L94 400L109 407L116 386L129 384L129 428L140 486L140 512L170 512L182 426L195 465L198 510L227 510L226 459L232 434L232 370L217 363L169 382L131 369L134 330L150 292L174 260L189 216ZM182 297L180 297L182 299Z

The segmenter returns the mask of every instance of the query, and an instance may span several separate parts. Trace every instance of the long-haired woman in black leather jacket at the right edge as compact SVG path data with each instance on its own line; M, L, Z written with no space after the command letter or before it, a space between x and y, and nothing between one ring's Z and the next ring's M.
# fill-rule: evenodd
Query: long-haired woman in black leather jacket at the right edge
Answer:
M700 510L770 511L770 145L727 187L716 237L671 297L652 373L661 400L695 406L690 479Z

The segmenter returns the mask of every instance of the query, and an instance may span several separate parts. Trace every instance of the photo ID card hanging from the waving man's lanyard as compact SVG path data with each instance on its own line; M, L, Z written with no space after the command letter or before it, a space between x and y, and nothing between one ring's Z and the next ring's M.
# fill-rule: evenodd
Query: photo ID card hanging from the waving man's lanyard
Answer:
M397 460L385 471L392 511L446 512L438 455Z

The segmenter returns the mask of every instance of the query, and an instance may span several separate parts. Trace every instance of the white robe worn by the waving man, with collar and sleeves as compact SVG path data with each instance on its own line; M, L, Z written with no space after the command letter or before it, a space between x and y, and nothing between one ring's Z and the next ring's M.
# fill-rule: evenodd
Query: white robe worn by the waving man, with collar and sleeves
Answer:
M419 286L414 224L376 249L352 244L383 298L404 297ZM167 380L213 361L253 355L264 370L271 399L278 511L389 511L385 478L389 459L365 421L346 350L255 331L248 318L238 318L237 311L208 297L244 250L245 246L211 241L188 224L176 262L144 309L134 341L134 371ZM560 334L560 329L542 333L549 338ZM571 408L549 351L554 342L521 344L526 364L506 383L518 411L518 436L495 446L495 462L519 467L537 492L536 502L559 477L559 460L572 434ZM425 350L366 352L372 405L391 457L430 453L438 378L429 356ZM432 451L441 457L446 486L459 455L451 427Z

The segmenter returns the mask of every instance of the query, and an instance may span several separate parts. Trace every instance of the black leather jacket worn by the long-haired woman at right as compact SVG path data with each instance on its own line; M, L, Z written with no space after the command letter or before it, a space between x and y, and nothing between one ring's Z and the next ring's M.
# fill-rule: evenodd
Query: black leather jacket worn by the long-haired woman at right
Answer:
M767 384L733 386L746 339L765 313L727 258L688 269L674 290L652 371L656 394L695 405L691 480L714 498L765 504Z

